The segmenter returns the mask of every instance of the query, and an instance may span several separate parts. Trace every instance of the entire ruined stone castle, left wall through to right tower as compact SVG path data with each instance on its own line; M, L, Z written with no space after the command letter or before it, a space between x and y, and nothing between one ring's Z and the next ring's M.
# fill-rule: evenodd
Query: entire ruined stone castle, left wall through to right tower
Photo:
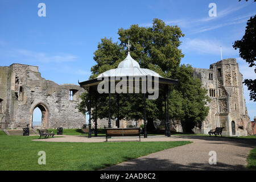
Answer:
M224 127L224 135L245 136L250 132L250 118L243 96L242 74L236 59L211 64L210 69L194 68L193 77L200 78L211 101L209 113L195 133L208 134L210 129ZM79 112L79 85L58 85L41 77L38 67L12 64L0 67L0 127L21 129L32 126L36 107L42 111L43 128L81 128L85 115ZM98 128L108 126L107 119L98 119ZM120 127L138 127L143 121L120 121ZM171 121L171 130L182 132L179 121ZM156 122L156 125L157 122ZM94 122L92 122L94 126ZM112 121L112 127L115 121Z

